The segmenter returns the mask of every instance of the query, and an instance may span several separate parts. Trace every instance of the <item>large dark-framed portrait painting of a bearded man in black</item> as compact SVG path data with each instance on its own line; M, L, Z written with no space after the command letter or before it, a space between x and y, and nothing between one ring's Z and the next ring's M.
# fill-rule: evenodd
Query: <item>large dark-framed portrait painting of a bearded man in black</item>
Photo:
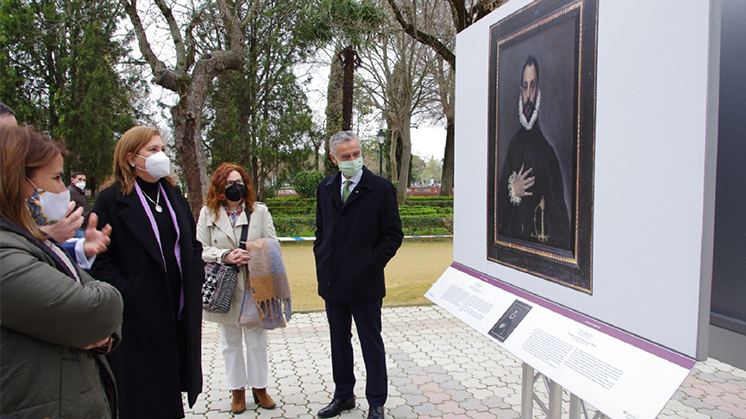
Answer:
M490 28L487 258L592 294L597 0Z

